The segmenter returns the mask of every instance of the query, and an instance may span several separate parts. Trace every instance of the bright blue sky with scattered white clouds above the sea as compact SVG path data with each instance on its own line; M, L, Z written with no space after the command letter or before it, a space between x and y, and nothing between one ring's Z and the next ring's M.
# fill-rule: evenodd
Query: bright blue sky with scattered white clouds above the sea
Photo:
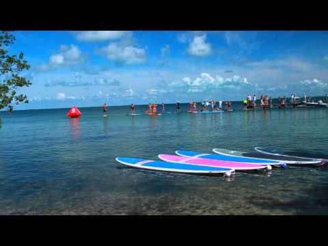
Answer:
M328 94L328 31L14 31L14 109Z

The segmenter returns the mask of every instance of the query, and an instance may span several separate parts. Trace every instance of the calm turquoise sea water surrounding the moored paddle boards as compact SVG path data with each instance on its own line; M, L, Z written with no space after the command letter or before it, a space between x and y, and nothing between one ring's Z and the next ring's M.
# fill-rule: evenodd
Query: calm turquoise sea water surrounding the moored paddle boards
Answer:
M145 106L146 107L146 106ZM137 113L145 107L137 106ZM328 167L193 176L132 169L116 156L175 150L328 154L328 109L125 115L128 107L0 112L1 215L327 215ZM174 111L174 105L167 105ZM182 111L187 105L182 105Z

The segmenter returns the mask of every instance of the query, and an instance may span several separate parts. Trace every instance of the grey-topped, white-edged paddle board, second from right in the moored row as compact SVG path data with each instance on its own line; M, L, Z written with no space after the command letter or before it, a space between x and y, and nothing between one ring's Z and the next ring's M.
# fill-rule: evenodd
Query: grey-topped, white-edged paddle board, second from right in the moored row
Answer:
M215 148L213 149L213 152L217 154L223 154L226 156L241 156L241 157L251 157L253 159L266 159L266 160L274 160L279 161L288 165L313 165L313 164L320 164L321 162L314 159L297 159L292 157L286 157L286 156L273 156L270 154L262 154L262 153L256 153L256 152L242 152L242 151L236 151L236 150L226 150L222 148Z

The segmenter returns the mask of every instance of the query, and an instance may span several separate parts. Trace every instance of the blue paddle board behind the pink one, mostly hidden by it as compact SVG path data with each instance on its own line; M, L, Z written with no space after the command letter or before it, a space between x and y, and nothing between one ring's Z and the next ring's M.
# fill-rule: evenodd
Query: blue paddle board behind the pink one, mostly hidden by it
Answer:
M263 165L279 165L279 161L273 160L266 160L266 159L254 159L249 157L239 157L239 156L226 156L223 154L203 154L200 152L188 151L188 150L176 150L176 154L179 156L186 156L186 157L196 157L196 158L203 158L203 159L215 159L221 161L236 161L236 162L243 162L243 163L258 163Z

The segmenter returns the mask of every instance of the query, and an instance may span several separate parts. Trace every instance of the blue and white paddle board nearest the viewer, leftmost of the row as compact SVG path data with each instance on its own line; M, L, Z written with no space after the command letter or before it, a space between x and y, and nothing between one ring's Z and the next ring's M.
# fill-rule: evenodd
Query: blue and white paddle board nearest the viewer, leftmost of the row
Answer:
M183 174L225 174L231 176L234 169L224 167L208 167L185 163L170 163L165 161L152 161L130 157L116 157L116 161L131 167L148 169L152 171L178 172Z

